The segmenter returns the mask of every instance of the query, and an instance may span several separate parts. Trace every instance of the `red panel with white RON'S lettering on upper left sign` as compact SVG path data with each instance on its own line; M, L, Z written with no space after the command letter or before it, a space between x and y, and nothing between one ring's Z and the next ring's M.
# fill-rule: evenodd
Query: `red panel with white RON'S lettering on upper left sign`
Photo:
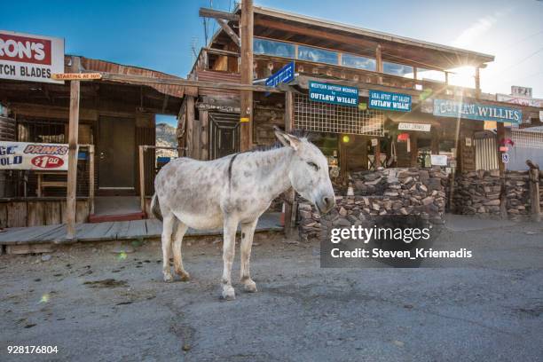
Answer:
M0 59L51 66L51 40L0 34Z

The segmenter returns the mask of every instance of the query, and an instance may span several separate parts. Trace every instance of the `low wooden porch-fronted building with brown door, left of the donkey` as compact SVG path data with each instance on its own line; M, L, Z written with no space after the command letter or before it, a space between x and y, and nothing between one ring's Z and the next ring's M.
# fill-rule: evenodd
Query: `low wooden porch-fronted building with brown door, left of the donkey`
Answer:
M75 64L81 67L74 69ZM179 79L150 69L66 56L67 73L98 72L158 79ZM93 218L94 197L100 206L118 213L119 196L131 196L139 210L139 146L155 145L155 114L179 114L186 87L130 81L81 83L79 154L77 161L77 222ZM0 118L0 140L68 143L70 83L29 83L0 80L0 103L8 112ZM94 162L92 157L94 151ZM153 194L154 150L145 154L146 194ZM91 177L94 175L94 177ZM0 227L61 224L67 217L67 172L2 171ZM91 179L93 178L93 179ZM131 201L130 201L131 202ZM126 216L126 215L125 215ZM97 217L95 217L97 218ZM99 218L97 220L99 221Z

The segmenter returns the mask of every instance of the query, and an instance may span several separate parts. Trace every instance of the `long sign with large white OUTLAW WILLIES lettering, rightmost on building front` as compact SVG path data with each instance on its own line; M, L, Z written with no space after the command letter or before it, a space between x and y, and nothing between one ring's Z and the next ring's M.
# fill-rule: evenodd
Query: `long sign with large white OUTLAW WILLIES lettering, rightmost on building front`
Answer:
M491 106L479 103L460 103L456 100L434 99L434 115L440 117L465 118L476 121L520 123L523 112L505 106Z

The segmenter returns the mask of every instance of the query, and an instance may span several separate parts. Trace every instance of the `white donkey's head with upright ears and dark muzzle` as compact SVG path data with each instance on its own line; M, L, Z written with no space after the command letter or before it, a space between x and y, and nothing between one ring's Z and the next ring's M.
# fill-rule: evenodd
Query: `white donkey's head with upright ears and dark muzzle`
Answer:
M277 127L275 136L284 146L294 150L288 177L295 191L311 201L320 213L326 214L335 205L327 158L306 138L297 138Z

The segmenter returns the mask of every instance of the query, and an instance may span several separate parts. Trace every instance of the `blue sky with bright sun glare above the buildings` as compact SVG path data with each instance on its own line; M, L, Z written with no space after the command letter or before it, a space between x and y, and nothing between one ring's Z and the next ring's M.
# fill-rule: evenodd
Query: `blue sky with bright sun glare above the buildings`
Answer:
M254 0L288 12L334 20L495 56L481 87L510 93L533 88L543 98L541 0ZM200 7L228 11L233 0L5 1L0 29L65 38L66 53L148 67L185 77L205 43ZM209 38L217 28L209 20ZM171 119L160 118L171 122Z

